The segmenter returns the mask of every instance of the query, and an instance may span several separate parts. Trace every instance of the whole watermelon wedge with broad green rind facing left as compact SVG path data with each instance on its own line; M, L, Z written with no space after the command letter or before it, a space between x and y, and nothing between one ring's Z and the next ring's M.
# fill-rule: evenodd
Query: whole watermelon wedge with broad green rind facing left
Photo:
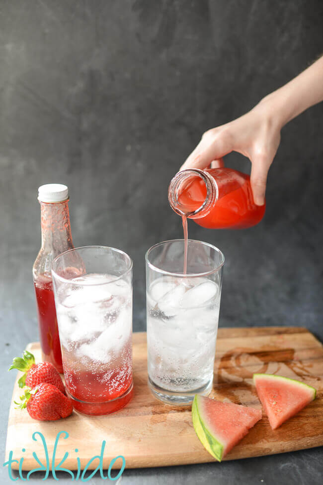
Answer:
M216 401L198 394L193 400L195 432L202 445L219 462L259 419L260 409Z

